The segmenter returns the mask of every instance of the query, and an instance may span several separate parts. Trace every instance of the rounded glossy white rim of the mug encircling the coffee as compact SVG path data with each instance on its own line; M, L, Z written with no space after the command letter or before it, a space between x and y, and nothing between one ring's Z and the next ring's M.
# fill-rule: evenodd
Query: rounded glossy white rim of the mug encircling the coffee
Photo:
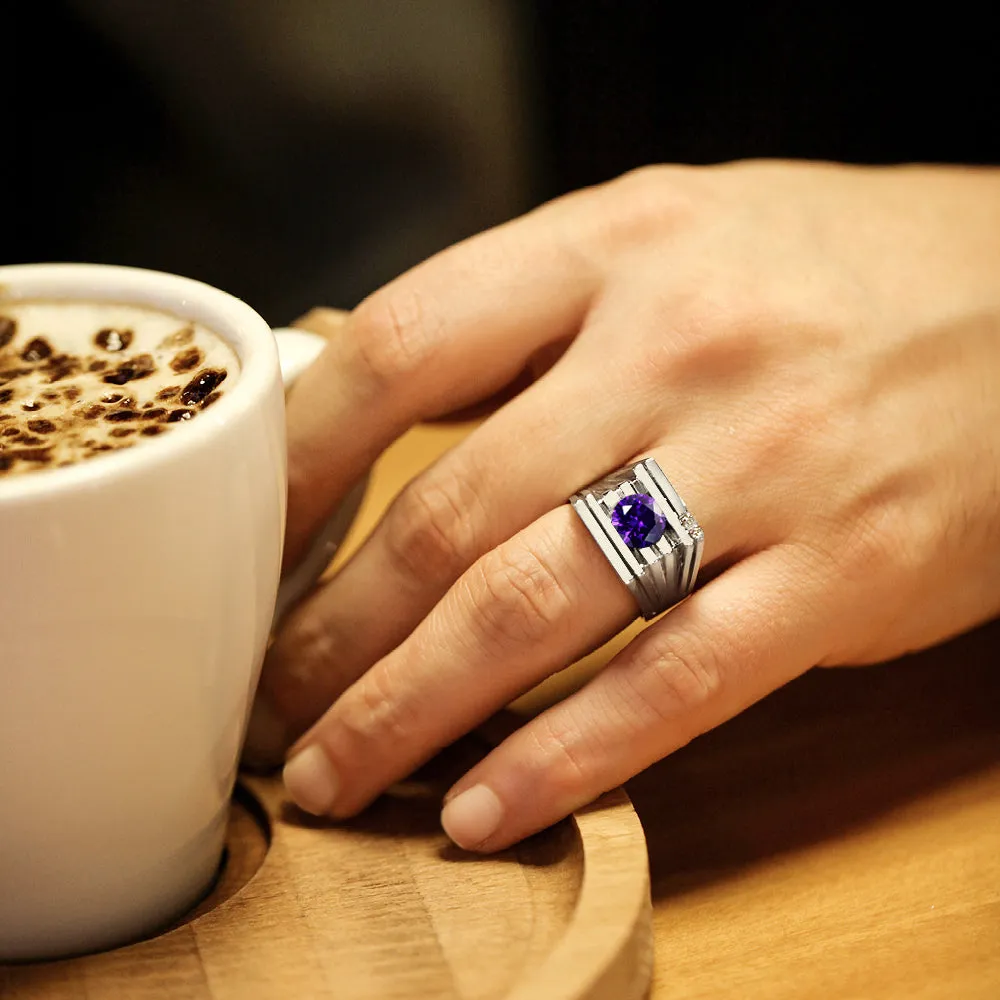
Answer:
M214 439L225 425L240 422L280 379L277 346L264 318L242 299L194 278L116 264L0 266L0 311L5 303L30 299L137 305L200 323L235 351L239 378L211 410L180 433L62 468L0 476L0 507L50 494L106 488L123 476L145 475L182 459Z

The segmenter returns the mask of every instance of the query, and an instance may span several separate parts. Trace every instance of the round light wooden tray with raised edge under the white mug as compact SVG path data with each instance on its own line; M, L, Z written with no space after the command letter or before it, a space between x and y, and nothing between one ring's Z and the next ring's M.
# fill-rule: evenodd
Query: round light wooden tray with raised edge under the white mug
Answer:
M441 796L474 734L347 823L244 776L226 860L173 928L115 951L0 966L4 1000L639 1000L649 875L622 790L501 854L453 847Z

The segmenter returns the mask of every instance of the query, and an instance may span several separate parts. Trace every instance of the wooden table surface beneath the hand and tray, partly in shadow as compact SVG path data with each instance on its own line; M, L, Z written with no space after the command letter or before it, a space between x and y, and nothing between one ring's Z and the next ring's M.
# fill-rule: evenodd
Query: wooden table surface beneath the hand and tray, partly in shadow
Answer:
M347 548L466 432L391 448ZM515 708L579 685L628 637ZM650 851L653 1000L1000 997L1000 622L814 670L628 791Z

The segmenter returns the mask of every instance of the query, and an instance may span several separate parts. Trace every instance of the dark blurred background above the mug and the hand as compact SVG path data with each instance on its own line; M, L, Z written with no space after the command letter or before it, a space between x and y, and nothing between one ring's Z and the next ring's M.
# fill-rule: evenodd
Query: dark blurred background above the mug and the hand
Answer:
M431 82L368 87L407 52L401 9L13 6L0 262L190 274L280 323L643 163L1000 162L996 40L961 6L467 0L459 30L432 0L403 32ZM246 34L249 15L269 27ZM343 100L276 61L270 42L301 29L335 68L356 54L337 49L345 26L367 49Z

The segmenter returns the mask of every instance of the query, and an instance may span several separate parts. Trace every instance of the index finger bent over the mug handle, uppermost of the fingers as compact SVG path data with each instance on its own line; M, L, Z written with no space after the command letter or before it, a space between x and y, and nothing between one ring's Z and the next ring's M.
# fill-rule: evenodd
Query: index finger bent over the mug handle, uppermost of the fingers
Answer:
M536 350L579 329L596 268L549 209L459 243L365 299L288 402L286 564L379 453L420 420L499 391Z

